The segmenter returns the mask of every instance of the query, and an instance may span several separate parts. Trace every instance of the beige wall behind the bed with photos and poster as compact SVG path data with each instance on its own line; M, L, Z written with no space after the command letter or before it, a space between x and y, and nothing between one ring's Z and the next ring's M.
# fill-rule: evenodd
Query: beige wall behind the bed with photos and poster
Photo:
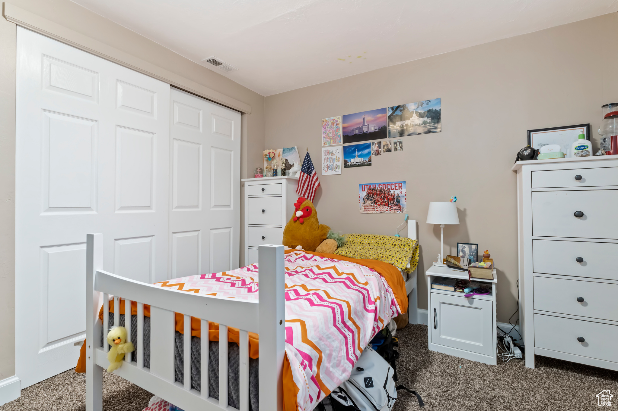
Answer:
M445 227L444 253L454 254L457 242L489 249L498 272L497 317L507 322L517 308L515 154L528 129L582 123L591 123L598 148L601 105L618 101L616 44L612 13L268 96L265 148L296 145L304 155L308 147L321 182L320 222L342 233L393 235L402 216L360 214L358 184L407 182L421 246L421 309L424 272L440 252L439 226L425 223L429 202L456 195L460 224ZM403 152L321 176L322 118L435 98L442 99L442 132L402 137ZM248 167L261 163L255 157Z

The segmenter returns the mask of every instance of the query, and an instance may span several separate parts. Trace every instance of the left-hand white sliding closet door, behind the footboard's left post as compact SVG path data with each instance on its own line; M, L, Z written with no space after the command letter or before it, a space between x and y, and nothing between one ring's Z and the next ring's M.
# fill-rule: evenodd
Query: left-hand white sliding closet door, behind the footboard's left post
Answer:
M167 279L169 84L17 28L15 368L22 388L75 367L85 240L104 269Z

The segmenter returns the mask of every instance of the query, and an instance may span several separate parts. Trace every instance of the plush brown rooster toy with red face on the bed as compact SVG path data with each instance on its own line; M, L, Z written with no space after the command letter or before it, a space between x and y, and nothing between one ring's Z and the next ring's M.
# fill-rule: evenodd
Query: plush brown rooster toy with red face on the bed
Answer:
M298 197L294 203L294 215L283 230L283 245L290 248L301 246L303 250L315 251L326 240L330 230L318 221L318 213L311 201Z

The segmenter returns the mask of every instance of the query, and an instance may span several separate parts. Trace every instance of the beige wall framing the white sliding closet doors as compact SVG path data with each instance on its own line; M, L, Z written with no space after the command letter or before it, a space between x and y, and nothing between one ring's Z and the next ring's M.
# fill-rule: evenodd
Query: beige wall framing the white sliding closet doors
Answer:
M264 146L264 97L68 0L11 0L21 9L251 106L241 118L240 174ZM0 381L15 374L15 24L0 19ZM252 166L253 167L253 166ZM253 168L249 169L252 174ZM243 195L241 188L238 193ZM241 201L241 226L244 211ZM243 230L241 236L243 235ZM244 239L239 238L239 246ZM242 264L244 253L241 253Z

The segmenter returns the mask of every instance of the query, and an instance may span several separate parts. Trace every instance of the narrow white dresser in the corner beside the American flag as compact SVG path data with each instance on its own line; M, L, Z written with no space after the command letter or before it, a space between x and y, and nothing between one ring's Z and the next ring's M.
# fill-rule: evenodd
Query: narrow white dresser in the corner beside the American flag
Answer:
M245 266L258 262L258 246L281 244L283 229L298 198L298 177L243 179L245 184Z

